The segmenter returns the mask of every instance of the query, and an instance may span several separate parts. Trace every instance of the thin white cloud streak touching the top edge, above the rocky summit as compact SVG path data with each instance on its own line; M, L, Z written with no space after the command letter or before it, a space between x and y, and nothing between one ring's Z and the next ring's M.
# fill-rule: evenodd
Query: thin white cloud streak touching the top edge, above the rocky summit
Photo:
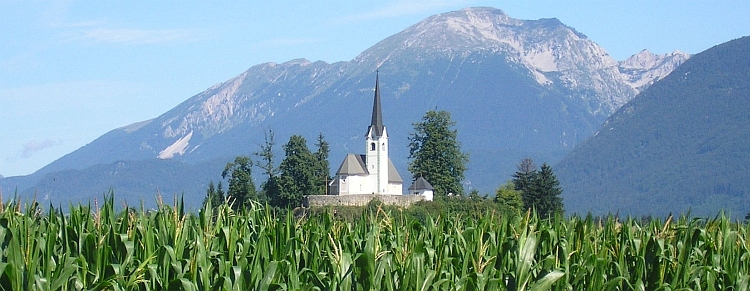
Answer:
M411 0L403 0L403 1L395 1L392 3L389 3L388 5L371 11L367 13L362 14L356 14L352 16L347 16L343 18L339 18L335 20L335 22L338 23L350 23L350 22L358 22L363 20L372 20L372 19L385 19L385 18L392 18L392 17L399 17L399 16L406 16L406 15L414 15L414 14L421 14L430 12L433 10L440 10L444 9L449 6L456 6L456 5L465 5L469 3L467 0L445 0L445 1L429 1L429 0L417 0L417 1L411 1Z

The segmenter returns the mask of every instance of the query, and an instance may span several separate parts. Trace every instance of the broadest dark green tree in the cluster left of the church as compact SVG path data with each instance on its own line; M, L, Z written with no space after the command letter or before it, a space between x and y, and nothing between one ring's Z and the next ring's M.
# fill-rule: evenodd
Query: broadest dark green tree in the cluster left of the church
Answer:
M304 137L293 135L284 145L286 157L279 167L278 195L271 200L271 205L278 207L296 207L302 204L302 196L315 191L315 156L307 148Z

